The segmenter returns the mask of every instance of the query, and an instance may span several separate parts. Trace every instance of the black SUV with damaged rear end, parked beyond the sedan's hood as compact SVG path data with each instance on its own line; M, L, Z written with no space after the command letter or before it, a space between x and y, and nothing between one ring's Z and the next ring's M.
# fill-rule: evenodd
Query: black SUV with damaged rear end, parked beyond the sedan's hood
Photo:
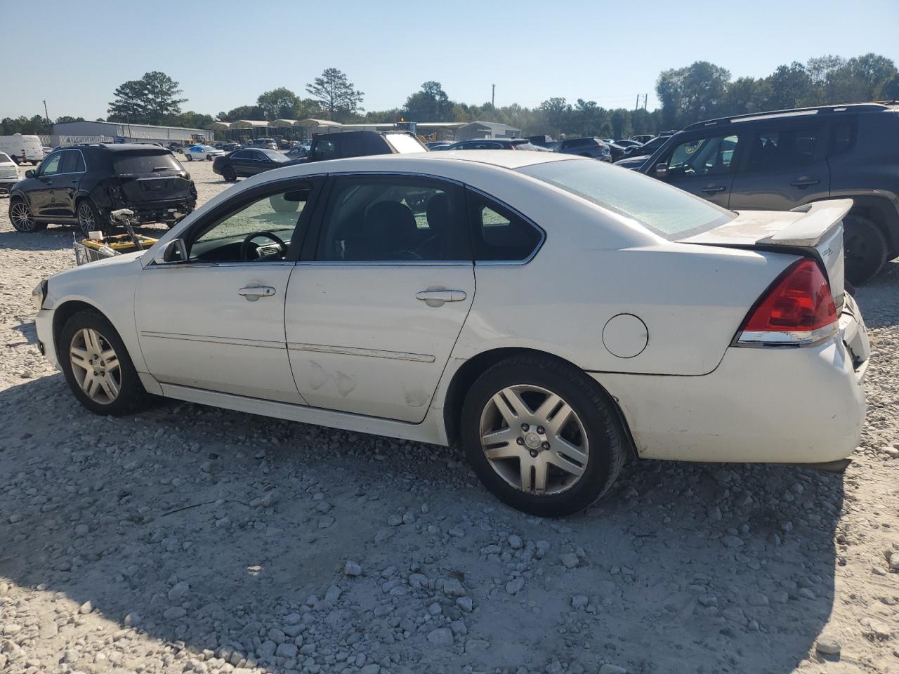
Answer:
M190 173L165 147L91 143L60 147L25 173L10 192L9 218L19 232L49 223L111 229L110 213L135 212L137 223L174 226L197 205Z

